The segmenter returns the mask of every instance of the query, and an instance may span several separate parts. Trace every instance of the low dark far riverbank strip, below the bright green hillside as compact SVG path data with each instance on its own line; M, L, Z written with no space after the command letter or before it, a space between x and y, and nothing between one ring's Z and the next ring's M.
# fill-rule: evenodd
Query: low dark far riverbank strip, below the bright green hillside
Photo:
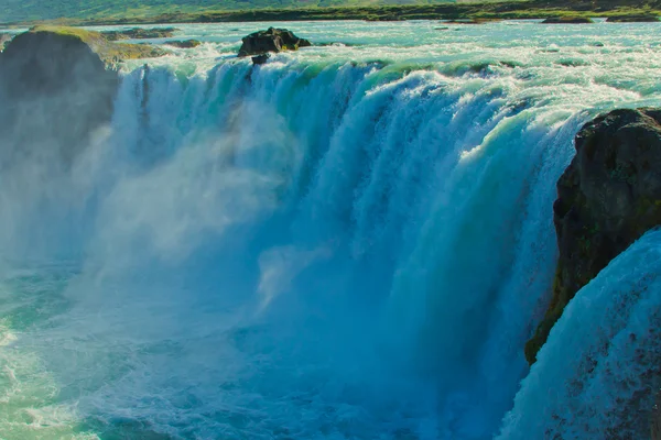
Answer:
M232 23L280 21L405 21L405 20L468 20L484 23L495 20L524 20L549 18L630 18L661 15L661 0L639 1L501 1L475 3L407 4L383 7L342 7L263 9L250 11L162 12L143 16L93 16L2 23L8 26L30 26L40 23L66 25L134 25L172 23ZM640 20L643 21L643 20ZM649 20L648 20L649 21Z

